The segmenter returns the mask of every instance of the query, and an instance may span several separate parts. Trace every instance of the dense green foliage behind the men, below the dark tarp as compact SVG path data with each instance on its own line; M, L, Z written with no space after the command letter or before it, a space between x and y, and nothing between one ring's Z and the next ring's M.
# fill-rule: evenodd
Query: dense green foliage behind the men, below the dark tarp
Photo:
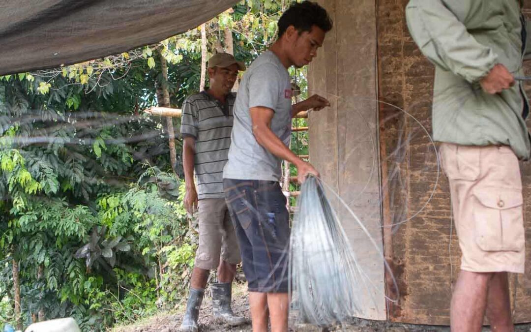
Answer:
M242 1L207 22L210 54L230 30L236 57L250 64L276 39L282 6ZM13 321L13 259L26 324L45 309L48 319L72 316L83 331L99 331L184 300L196 241L182 174L170 167L165 122L141 114L157 105L160 56L170 103L179 107L199 87L198 29L0 77L0 320ZM304 95L304 70L291 74ZM307 154L299 135L292 147Z

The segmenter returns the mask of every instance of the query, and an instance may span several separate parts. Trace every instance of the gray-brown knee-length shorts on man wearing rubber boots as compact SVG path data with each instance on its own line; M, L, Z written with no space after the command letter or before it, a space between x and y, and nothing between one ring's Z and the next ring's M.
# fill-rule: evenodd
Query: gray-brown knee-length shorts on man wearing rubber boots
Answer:
M230 220L225 198L199 200L199 247L195 267L216 269L219 259L230 264L241 261L238 240Z

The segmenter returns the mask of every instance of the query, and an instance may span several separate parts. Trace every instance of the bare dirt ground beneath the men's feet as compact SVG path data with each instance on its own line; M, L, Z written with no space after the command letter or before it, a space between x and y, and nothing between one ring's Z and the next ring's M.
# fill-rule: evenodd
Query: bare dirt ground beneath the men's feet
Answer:
M208 293L208 292L207 292ZM200 332L251 332L251 317L249 313L249 300L247 299L246 286L235 284L233 288L233 311L247 320L243 326L230 327L222 321L212 316L212 303L210 296L205 295L199 314ZM117 326L111 332L177 332L183 318L184 306L172 313L160 313L155 317L144 319L132 325ZM484 331L490 331L484 328ZM387 321L372 321L364 319L354 319L350 324L320 328L310 325L290 324L290 332L327 332L327 331L349 331L349 332L449 332L450 328L441 326L424 326L412 324L399 324ZM522 324L516 327L517 332L531 332L531 324Z

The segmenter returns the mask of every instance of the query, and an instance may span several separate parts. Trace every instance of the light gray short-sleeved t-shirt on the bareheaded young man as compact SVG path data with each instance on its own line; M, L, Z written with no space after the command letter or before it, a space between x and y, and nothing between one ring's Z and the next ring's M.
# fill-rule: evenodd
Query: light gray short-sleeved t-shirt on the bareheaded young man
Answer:
M271 108L271 130L286 146L292 131L292 88L289 73L275 53L260 55L245 72L234 104L234 126L223 178L279 181L281 161L253 135L251 107Z

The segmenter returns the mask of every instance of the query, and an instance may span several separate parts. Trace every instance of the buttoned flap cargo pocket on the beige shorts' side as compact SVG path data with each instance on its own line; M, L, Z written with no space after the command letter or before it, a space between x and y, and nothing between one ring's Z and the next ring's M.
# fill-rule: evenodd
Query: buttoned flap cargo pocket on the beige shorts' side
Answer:
M524 249L523 197L520 190L474 189L476 244L485 251Z

